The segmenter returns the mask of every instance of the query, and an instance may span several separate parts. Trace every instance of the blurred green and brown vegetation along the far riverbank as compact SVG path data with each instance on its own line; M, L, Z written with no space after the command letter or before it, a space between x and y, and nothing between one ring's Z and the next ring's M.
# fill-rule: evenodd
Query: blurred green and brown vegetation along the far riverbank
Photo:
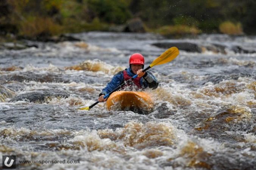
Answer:
M255 0L1 0L0 34L36 39L110 31L139 18L146 32L173 37L252 35L255 9Z

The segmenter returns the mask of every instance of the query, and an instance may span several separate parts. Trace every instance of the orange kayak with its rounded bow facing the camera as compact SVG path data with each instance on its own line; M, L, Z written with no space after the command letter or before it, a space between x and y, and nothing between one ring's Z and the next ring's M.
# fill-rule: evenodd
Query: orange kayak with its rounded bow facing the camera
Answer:
M146 92L117 91L106 101L108 110L151 110L154 102Z

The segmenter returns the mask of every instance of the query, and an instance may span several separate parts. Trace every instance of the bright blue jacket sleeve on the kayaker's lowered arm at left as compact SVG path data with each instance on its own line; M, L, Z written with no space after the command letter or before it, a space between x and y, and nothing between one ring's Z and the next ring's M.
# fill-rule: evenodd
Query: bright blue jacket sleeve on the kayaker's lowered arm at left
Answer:
M106 95L112 90L116 89L122 82L123 80L123 71L118 72L112 80L107 84L107 86L102 90L99 96L101 95Z

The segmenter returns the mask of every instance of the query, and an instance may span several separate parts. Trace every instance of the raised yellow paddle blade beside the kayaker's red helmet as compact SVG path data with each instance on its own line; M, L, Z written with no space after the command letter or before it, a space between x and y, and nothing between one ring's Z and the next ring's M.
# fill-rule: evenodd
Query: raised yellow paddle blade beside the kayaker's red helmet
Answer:
M172 61L174 58L176 58L179 55L179 50L177 47L169 48L167 51L165 51L162 55L160 55L156 60L153 61L152 64L150 64L150 67L165 64L170 61Z

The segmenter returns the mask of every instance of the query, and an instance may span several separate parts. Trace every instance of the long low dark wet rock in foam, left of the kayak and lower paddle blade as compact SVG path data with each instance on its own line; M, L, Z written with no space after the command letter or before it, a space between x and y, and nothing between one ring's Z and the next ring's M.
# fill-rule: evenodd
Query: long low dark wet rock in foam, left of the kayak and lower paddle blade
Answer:
M64 91L55 91L50 89L42 89L36 91L25 92L12 98L9 102L27 101L32 103L48 103L53 98L68 98L69 93Z

